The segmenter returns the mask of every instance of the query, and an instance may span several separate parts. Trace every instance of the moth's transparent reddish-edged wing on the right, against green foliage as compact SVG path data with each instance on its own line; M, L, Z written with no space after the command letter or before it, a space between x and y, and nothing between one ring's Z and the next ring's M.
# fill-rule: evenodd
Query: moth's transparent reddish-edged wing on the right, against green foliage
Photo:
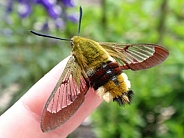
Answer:
M142 70L163 62L169 52L155 44L99 43L117 62L121 69Z

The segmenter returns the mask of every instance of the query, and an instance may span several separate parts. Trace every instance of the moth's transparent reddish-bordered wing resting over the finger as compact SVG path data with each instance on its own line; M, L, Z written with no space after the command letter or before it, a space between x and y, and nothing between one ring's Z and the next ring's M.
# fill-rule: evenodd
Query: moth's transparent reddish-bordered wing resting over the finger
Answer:
M66 122L84 102L88 89L79 64L71 56L43 109L42 131L53 130Z

